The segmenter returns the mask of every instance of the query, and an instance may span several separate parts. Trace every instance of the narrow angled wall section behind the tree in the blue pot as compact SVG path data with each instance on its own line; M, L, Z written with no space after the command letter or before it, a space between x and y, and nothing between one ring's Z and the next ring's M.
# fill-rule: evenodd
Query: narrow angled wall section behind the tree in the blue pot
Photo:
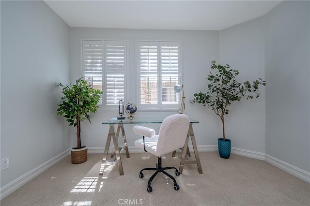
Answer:
M261 17L219 32L220 63L239 70L240 82L265 79L263 26ZM228 108L225 134L232 139L232 147L265 152L265 88L260 91L259 98L243 98Z

